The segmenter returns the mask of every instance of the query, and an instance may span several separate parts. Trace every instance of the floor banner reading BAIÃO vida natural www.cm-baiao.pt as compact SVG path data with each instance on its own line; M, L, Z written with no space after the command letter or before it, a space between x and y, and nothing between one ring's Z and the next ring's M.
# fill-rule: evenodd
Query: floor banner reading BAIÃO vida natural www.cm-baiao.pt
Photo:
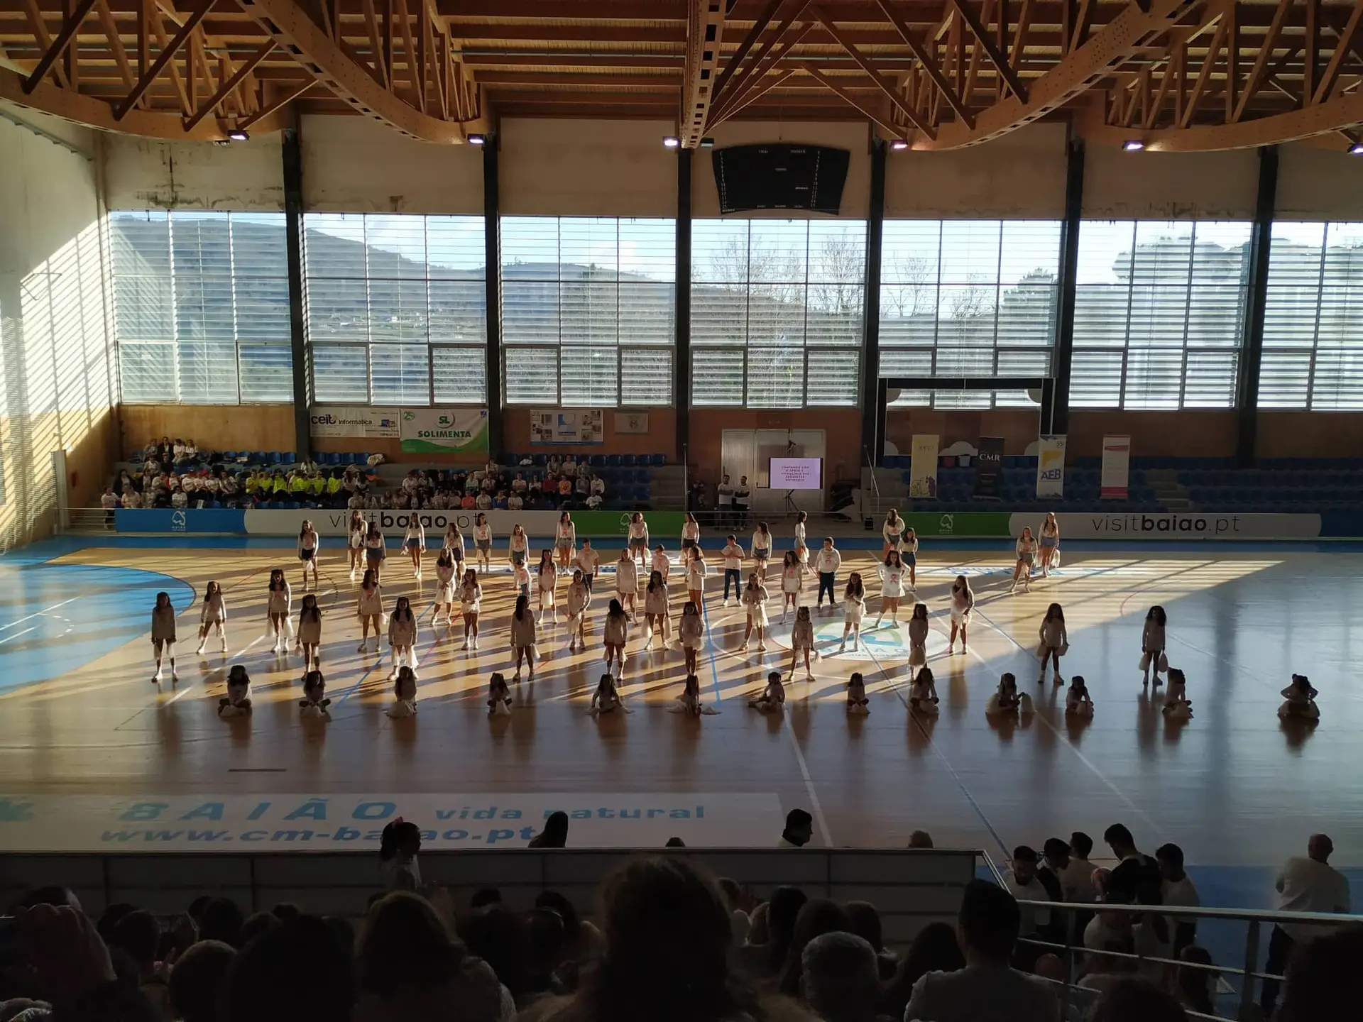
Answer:
M0 794L0 852L373 853L384 823L421 827L423 848L525 848L549 814L574 848L770 846L776 794Z

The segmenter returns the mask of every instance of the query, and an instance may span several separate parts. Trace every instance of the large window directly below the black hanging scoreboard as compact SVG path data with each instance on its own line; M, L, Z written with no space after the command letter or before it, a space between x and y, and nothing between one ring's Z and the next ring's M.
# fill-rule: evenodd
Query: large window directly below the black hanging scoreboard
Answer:
M857 403L863 221L691 225L691 403Z

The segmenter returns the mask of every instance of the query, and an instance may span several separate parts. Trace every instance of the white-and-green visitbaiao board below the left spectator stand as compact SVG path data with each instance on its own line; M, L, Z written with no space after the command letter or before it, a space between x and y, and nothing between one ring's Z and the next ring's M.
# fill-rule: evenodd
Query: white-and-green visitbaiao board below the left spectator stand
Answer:
M240 516L243 512L237 511L234 514ZM412 511L376 510L365 511L365 519L378 522L379 529L386 536L401 536L406 530L412 514ZM450 522L458 522L459 530L466 533L472 544L473 518L477 514L477 511L416 512L421 519L421 526L427 530L428 545L435 538L431 534L443 536L444 530L450 527ZM553 536L553 527L559 521L557 511L485 511L484 514L488 516L488 525L492 526L493 541L499 545L506 544L506 537L511 533L511 526L517 523L530 536L545 538ZM643 521L649 525L650 536L660 537L668 546L680 541L684 518L680 511L643 512ZM311 521L313 529L320 536L345 536L350 512L341 507L289 511L252 510L245 512L245 531L251 536L297 536L304 519ZM590 536L593 538L623 537L628 531L630 514L624 511L574 511L572 521L578 526L578 536Z

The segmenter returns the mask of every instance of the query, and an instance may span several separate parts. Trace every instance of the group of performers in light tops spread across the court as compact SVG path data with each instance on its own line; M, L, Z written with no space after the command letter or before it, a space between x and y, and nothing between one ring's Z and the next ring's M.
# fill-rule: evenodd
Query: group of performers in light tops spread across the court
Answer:
M919 540L912 527L908 527L897 512L890 511L883 526L882 559L876 566L880 593L875 624L872 628L883 627L889 615L890 627L898 628L900 604L908 598L912 606L906 623L908 632L908 662L916 668L910 681L909 706L915 711L936 713L938 695L931 669L927 666L927 642L931 631L927 604L915 598L917 589L917 553ZM631 636L631 628L642 624L643 647L653 649L656 642L664 647L673 643L680 649L684 658L686 683L682 696L677 699L679 711L699 714L707 711L701 704L699 683L696 681L696 661L705 645L706 623L703 617L703 590L709 576L709 566L705 552L701 548L701 527L694 515L686 516L682 531L680 568L673 566L671 556L662 544L652 545L649 527L643 516L634 514L627 527L626 546L620 551L615 563L615 594L608 601L605 619L601 630L602 672L598 688L592 699L592 713L611 713L622 709L623 702L619 695L619 684L626 661L626 647ZM473 526L473 551L466 545L466 538L458 523L451 522L442 537L440 549L435 560L436 591L431 613L431 625L453 628L455 621L455 606L462 621L463 645L461 650L477 650L480 639L478 619L481 615L484 587L483 579L492 568L492 530L483 514L476 515ZM319 585L318 560L320 557L320 538L311 522L304 522L297 538L297 557L301 564L303 586L308 589L308 575L312 583ZM427 537L416 515L402 538L402 551L408 555L412 572L416 579L423 578L427 555ZM724 561L724 606L731 605L731 585L737 595L739 604L746 615L741 649L747 650L754 635L756 638L756 651L766 650L766 631L770 624L767 601L771 593L767 587L774 540L766 522L758 522L752 533L750 553L746 553L736 536L728 536L725 546L720 551ZM416 685L417 685L417 643L418 643L418 615L413 610L408 597L399 595L387 609L382 578L387 561L386 540L376 525L365 521L360 512L352 514L348 530L348 551L352 580L363 571L356 590L356 615L360 619L361 639L358 653L379 653L380 636L387 631L390 647L390 675L394 683L394 704L388 709L390 715L409 717L416 713ZM477 564L468 561L476 557ZM747 582L741 582L744 560L751 557L752 570ZM517 593L515 605L511 612L508 640L514 675L511 683L521 681L522 668L526 670L529 681L534 680L537 646L541 639L541 630L555 623L557 609L559 576L567 576L564 594L563 619L567 625L568 651L577 653L587 649L586 619L592 605L597 578L601 574L601 555L592 545L590 538L583 538L578 545L577 527L571 514L564 511L555 529L553 546L541 552L538 563L530 567L530 541L525 530L517 525L507 537L507 561L511 568L512 587ZM786 551L781 559L778 586L781 593L781 620L785 621L793 615L791 627L791 665L789 677L793 679L797 668L803 662L804 675L812 679L811 658L819 655L814 634L814 617L811 608L800 604L800 594L807 576L818 576L818 597L815 609L823 606L825 594L829 598L830 609L837 609L836 575L841 567L841 553L831 538L825 538L821 548L811 557L806 538L806 515L801 512L793 530L793 548ZM1040 529L1040 538L1033 538L1030 529L1024 529L1017 541L1017 561L1014 566L1014 591L1021 582L1026 587L1033 570L1040 570L1041 575L1048 575L1059 564L1059 527L1054 515L1047 515L1045 523ZM480 575L481 570L481 575ZM687 600L682 608L673 636L671 620L671 582L673 574L680 574L682 585L686 586ZM642 608L639 608L639 582L643 580ZM533 600L533 606L532 606ZM831 654L844 653L851 640L852 650L856 651L861 643L861 628L867 615L867 590L861 572L852 572L842 586L842 636L837 650ZM968 651L968 634L975 612L975 593L965 575L957 575L950 587L950 638L947 654L955 653L955 642L960 636L961 653ZM326 715L330 700L326 698L326 680L322 675L320 646L322 646L322 608L315 593L307 591L300 604L296 627L293 615L293 591L285 578L282 568L270 572L266 595L266 613L269 619L267 636L273 638L273 651L288 653L289 639L303 655L304 699L300 703L307 715ZM641 621L642 615L642 621ZM199 646L196 653L203 655L210 634L217 635L224 654L228 651L226 625L228 609L222 587L218 582L209 582L204 589L199 613ZM1168 684L1164 692L1163 710L1174 719L1189 719L1193 715L1193 704L1187 698L1186 679L1182 670L1171 669L1165 655L1165 624L1164 608L1152 606L1145 619L1141 636L1141 670L1145 684L1161 685L1160 675L1165 675ZM373 646L369 646L369 634L373 634ZM1069 635L1065 623L1065 610L1060 604L1051 604L1039 628L1039 645L1036 655L1040 661L1039 683L1045 681L1047 665L1055 684L1063 684L1060 676L1060 657L1069 651ZM151 613L151 642L155 655L155 672L153 683L159 684L162 675L162 657L169 658L172 681L177 681L174 642L176 642L176 612L170 605L166 593L157 594L157 604ZM773 670L767 677L767 684L751 700L751 706L759 710L780 710L785 702L782 675ZM228 696L222 700L224 715L237 715L249 711L248 695L249 679L240 665L233 666L228 679ZM1280 715L1318 719L1319 711L1315 707L1315 690L1302 676L1293 676L1293 683L1283 691L1285 702L1280 709ZM860 673L853 673L848 681L846 695L848 711L855 714L868 713L866 696L866 681ZM511 707L510 690L504 675L496 673L489 681L488 711L492 715L508 713ZM1006 673L999 681L998 691L990 698L987 713L995 714L1026 714L1030 713L1030 699L1025 694L1018 694L1014 675ZM1093 715L1093 700L1081 676L1070 680L1066 696L1066 713L1079 717Z

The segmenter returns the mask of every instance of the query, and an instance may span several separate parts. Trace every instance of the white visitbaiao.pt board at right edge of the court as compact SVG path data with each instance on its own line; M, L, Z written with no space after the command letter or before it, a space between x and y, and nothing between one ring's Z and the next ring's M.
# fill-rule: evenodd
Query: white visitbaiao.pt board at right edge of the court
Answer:
M1036 533L1043 514L1014 514L1009 531L1021 536L1024 526ZM1319 515L1255 514L1074 514L1055 516L1060 525L1060 545L1066 540L1315 540L1321 536Z

